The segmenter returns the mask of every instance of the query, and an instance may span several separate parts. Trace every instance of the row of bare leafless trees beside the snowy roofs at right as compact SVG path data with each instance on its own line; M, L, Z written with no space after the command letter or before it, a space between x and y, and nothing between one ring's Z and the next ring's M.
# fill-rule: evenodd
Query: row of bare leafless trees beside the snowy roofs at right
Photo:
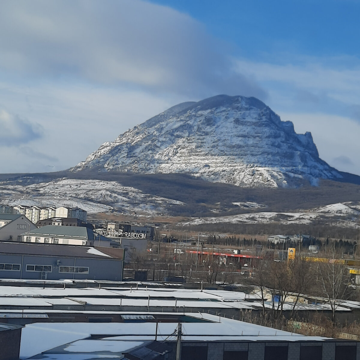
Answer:
M336 309L341 302L357 297L350 284L346 261L339 260L337 255L333 252L332 257L323 262L300 257L280 263L271 259L257 261L254 264L253 281L259 289L263 315L265 301L271 300L273 316L278 318L283 313L286 299L292 296L293 316L300 299L307 295L314 297L314 300L318 298L319 302L328 303L334 320Z

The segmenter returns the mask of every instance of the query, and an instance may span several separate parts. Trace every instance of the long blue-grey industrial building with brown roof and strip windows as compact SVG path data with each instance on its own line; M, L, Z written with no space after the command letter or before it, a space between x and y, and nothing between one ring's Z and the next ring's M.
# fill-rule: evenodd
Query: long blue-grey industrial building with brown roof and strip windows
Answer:
M123 250L0 242L0 278L121 280Z

